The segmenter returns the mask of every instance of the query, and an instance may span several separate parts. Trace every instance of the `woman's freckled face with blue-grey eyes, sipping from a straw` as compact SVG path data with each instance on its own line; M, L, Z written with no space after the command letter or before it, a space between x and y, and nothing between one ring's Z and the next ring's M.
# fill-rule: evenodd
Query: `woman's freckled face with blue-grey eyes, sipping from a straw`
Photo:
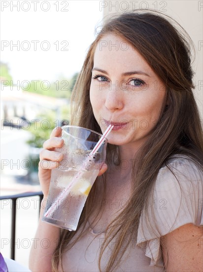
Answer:
M94 55L90 101L102 133L114 125L108 142L143 143L165 98L164 84L135 48L119 36L105 35Z

